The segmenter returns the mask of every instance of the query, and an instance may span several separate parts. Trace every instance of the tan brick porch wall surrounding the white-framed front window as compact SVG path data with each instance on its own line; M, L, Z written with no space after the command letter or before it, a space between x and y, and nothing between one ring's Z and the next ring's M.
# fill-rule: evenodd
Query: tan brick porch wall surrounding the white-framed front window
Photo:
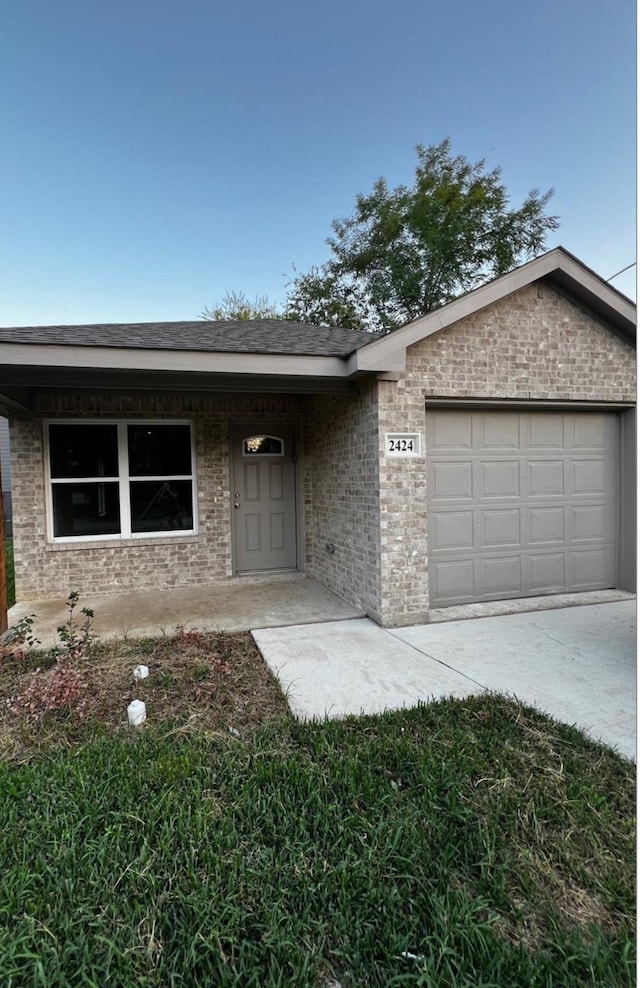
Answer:
M198 534L47 544L43 418L185 419L194 426ZM126 394L40 397L37 417L11 422L14 554L18 600L221 583L233 575L229 421L304 420L297 397ZM311 507L307 461L299 464L304 510ZM305 523L310 531L311 526ZM309 555L306 549L305 555Z

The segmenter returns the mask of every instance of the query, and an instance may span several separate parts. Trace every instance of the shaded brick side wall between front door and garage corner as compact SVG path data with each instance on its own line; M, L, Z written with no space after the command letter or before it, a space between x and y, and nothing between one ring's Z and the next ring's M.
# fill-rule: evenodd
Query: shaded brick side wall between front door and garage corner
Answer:
M309 436L309 575L377 616L381 563L376 383L364 385L357 395L314 398Z

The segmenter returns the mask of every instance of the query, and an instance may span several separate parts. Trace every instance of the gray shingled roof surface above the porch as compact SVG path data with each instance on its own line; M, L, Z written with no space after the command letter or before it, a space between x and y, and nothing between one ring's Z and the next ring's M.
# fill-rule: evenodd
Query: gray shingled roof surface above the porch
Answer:
M280 319L207 322L95 323L87 326L0 327L0 344L132 347L210 353L347 357L378 333L331 329Z

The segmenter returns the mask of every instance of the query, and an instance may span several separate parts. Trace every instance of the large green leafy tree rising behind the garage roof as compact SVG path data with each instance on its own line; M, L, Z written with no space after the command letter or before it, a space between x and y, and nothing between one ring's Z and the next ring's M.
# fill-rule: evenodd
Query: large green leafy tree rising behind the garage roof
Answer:
M334 220L330 259L290 285L290 318L395 329L535 257L557 229L553 189L510 209L500 168L453 156L448 139L416 153L412 186L380 178Z

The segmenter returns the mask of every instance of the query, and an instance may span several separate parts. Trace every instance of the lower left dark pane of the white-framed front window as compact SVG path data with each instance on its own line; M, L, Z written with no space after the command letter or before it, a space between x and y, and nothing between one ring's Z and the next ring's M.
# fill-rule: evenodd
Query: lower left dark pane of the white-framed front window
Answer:
M53 484L53 534L119 535L118 484Z

